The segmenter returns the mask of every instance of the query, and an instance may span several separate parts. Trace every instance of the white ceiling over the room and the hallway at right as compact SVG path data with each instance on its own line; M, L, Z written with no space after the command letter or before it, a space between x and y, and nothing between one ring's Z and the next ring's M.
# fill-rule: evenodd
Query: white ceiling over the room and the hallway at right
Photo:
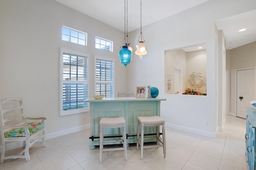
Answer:
M124 31L124 0L56 0L74 10ZM208 0L142 0L142 27ZM256 41L256 10L216 21L226 49ZM140 0L128 0L128 32L140 28ZM239 29L246 28L244 32ZM189 50L190 51L190 50Z

